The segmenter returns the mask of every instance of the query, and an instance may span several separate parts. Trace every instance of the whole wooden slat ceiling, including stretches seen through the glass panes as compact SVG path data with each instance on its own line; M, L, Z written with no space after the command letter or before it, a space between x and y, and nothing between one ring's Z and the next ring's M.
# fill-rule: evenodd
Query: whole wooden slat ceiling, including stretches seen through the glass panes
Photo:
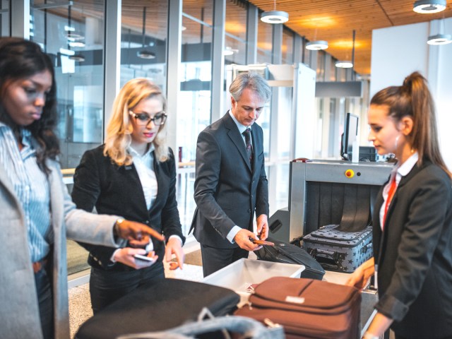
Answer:
M73 1L73 20L83 21L92 16L103 19L106 0ZM47 1L48 2L48 1ZM275 4L276 2L276 4ZM422 23L452 17L452 0L441 13L419 14L412 11L415 0L249 0L262 11L286 11L289 21L285 25L309 41L326 40L326 52L336 59L352 59L352 37L355 35L355 71L370 74L372 30L397 25ZM35 0L42 4L44 0ZM246 0L226 0L226 31L245 39L246 15L237 6L246 8ZM146 35L165 40L167 37L167 1L122 0L122 26L136 35L143 30L143 8L146 8ZM213 22L213 0L183 0L183 12L208 25ZM67 8L56 8L52 13L67 16ZM183 43L210 42L211 28L201 27L194 20L182 18L186 30L182 32ZM432 32L437 34L438 32ZM451 34L452 32L444 32ZM259 23L258 47L271 49L270 24ZM415 39L415 37L413 37Z

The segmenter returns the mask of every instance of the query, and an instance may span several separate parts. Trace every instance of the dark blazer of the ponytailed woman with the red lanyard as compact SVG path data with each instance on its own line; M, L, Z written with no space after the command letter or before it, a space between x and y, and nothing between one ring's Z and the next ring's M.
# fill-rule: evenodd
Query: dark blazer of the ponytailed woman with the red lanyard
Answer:
M400 180L381 232L382 189L374 209L376 309L404 338L452 338L452 188L424 161Z

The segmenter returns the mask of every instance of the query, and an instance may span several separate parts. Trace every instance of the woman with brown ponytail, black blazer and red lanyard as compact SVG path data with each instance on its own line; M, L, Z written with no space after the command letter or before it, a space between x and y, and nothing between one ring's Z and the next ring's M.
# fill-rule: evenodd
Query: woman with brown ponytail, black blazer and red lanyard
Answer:
M415 72L376 93L368 120L369 141L398 162L376 198L374 257L347 282L364 288L376 278L377 313L363 338L388 328L396 339L452 338L451 172L426 79Z

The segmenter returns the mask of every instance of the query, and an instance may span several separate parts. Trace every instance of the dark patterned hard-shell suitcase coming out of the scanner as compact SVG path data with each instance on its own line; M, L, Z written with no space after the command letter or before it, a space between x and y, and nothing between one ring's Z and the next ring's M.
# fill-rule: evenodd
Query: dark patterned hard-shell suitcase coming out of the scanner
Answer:
M372 227L357 232L337 230L326 225L303 237L303 247L323 268L352 273L373 255Z

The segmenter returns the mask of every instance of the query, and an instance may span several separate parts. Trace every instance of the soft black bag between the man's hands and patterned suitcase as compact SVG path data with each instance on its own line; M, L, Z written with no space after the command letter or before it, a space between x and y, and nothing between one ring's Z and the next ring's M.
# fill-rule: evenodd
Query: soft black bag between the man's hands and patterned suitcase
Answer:
M261 249L255 251L260 260L301 264L304 265L305 269L300 278L322 280L325 270L307 251L299 246L280 242L276 239L268 238L267 240L273 242L275 246L262 246Z

